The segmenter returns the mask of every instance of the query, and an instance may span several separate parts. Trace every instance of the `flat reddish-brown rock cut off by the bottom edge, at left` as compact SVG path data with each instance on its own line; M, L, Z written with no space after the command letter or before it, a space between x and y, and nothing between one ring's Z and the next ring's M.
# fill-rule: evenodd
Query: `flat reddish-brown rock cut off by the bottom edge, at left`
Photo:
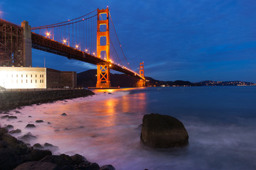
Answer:
M60 169L57 164L51 162L26 162L18 165L14 170L36 169L36 170L57 170Z

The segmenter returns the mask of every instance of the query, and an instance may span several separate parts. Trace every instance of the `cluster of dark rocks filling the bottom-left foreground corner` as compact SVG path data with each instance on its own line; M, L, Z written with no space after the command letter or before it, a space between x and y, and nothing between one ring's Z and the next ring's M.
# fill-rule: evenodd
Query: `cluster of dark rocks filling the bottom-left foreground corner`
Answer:
M35 149L41 147L41 149ZM0 128L0 170L48 169L48 170L114 170L112 165L100 167L96 163L88 162L80 154L68 156L66 154L53 155L43 147L55 147L46 143L28 147L21 140L8 134L7 128Z

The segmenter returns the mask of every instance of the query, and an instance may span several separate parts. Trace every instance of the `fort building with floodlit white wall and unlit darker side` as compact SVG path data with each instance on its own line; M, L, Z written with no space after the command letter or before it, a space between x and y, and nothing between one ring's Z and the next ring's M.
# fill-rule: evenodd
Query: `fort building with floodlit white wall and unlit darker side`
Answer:
M0 67L0 86L5 89L75 88L76 72L41 67Z

